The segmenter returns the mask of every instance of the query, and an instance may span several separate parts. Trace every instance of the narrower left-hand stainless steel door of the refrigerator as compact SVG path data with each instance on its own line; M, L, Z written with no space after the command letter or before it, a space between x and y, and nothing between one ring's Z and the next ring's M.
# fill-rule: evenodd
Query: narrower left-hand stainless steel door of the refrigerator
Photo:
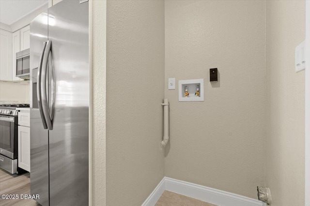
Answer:
M39 194L36 201L48 206L48 131L43 123L38 107L37 71L43 43L47 41L47 11L38 15L30 24L30 165L31 194Z

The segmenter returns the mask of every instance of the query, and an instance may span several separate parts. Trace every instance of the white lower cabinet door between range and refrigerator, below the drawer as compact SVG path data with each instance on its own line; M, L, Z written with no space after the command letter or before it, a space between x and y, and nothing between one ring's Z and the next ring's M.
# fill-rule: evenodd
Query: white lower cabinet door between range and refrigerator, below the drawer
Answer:
M18 126L18 167L30 172L30 128Z

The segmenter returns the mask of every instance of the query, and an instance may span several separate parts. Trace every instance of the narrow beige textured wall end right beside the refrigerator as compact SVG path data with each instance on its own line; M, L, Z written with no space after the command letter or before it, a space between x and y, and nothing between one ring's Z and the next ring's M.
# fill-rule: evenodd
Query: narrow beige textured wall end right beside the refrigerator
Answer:
M92 0L92 205L106 206L107 1Z

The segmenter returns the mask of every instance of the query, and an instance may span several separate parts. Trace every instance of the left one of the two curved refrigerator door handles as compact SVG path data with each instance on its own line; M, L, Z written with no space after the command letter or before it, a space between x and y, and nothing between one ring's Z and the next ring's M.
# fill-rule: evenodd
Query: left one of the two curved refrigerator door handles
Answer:
M42 95L41 95L41 76L42 76L42 63L43 63L43 57L44 57L44 51L46 48L47 42L43 43L43 49L41 51L40 60L39 60L39 66L38 66L38 75L37 75L37 95L38 95L38 105L40 110L40 115L43 123L43 128L47 129L47 122L45 120L44 114L43 114L43 107L42 107Z

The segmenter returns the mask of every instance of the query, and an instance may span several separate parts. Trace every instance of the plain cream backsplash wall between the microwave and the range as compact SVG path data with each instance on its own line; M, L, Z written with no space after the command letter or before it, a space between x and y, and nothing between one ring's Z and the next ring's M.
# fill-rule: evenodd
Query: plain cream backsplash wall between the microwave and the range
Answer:
M0 82L0 102L30 103L29 84Z

